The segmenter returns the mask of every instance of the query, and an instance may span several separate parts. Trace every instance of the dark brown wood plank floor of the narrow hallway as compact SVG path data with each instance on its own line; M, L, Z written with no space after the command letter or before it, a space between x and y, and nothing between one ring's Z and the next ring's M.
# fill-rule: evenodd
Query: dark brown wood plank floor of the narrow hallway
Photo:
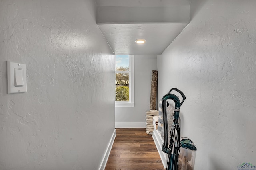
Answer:
M105 170L164 170L164 166L144 128L120 128Z

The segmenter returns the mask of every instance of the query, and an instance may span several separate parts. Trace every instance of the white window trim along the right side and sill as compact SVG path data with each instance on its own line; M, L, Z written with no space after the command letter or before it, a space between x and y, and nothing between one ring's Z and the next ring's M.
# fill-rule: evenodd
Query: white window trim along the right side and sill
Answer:
M116 73L120 72L115 71L115 75ZM134 55L129 55L129 101L115 101L115 106L134 107Z

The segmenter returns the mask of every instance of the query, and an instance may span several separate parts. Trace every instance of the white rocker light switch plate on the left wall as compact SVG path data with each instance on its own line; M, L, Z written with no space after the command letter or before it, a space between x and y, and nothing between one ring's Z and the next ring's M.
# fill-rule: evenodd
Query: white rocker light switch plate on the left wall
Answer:
M26 64L7 61L8 94L27 92Z

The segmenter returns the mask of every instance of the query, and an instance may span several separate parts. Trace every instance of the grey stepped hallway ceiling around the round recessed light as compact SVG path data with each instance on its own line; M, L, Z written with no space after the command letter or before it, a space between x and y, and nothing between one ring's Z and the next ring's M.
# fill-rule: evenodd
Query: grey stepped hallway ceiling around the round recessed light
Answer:
M98 27L115 55L162 54L190 22L190 0L96 0L96 5Z

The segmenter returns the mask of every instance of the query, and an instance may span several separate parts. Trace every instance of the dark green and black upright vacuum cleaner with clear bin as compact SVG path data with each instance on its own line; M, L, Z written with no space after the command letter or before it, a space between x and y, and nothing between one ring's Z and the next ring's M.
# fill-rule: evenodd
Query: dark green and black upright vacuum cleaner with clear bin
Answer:
M182 96L182 101L172 91L178 92ZM185 101L186 96L177 88L172 88L168 94L164 95L162 100L162 115L164 128L164 142L162 151L168 154L166 170L194 170L196 158L196 145L187 137L180 138L179 115L180 106ZM168 145L168 120L167 111L169 103L167 100L173 100L175 103L173 113L173 123L170 130L170 143ZM160 109L159 109L160 110Z

